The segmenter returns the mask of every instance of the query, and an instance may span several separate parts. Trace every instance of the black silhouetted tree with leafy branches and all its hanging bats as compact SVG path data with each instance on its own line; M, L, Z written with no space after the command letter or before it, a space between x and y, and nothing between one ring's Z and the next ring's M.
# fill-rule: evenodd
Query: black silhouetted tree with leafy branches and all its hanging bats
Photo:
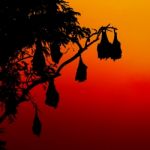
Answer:
M39 84L47 83L45 104L56 108L59 93L55 78L60 76L67 64L79 58L75 79L85 81L87 66L81 54L100 40L101 33L98 58L121 58L117 29L110 25L99 29L81 27L79 15L65 0L0 1L0 102L5 110L0 122L6 117L13 119L17 106L30 101L35 108L32 129L40 135L42 126L30 91ZM113 43L107 39L108 31L114 31ZM78 49L69 59L61 61L65 53L71 52L66 48L69 44ZM63 52L62 49L67 50Z

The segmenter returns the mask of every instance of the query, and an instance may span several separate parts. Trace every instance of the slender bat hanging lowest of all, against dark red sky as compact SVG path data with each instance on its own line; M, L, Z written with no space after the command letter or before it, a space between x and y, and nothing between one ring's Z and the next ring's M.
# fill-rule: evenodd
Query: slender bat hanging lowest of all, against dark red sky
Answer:
M42 129L41 121L36 112L33 120L32 131L35 135L39 136L41 134L41 129Z

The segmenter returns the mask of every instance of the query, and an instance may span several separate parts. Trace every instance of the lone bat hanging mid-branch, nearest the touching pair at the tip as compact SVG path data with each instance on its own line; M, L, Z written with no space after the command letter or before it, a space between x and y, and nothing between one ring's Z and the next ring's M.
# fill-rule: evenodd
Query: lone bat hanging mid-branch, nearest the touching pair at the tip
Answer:
M87 79L87 66L83 63L82 58L80 56L75 80L82 82L82 81L85 81L86 79Z

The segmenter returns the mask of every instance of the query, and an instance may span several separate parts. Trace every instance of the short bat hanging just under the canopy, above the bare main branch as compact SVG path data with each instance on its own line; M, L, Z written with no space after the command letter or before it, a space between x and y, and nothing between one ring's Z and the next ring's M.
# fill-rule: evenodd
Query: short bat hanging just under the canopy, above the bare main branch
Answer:
M62 57L62 53L60 52L60 45L56 42L52 43L51 46L51 57L55 63L59 63L60 58Z

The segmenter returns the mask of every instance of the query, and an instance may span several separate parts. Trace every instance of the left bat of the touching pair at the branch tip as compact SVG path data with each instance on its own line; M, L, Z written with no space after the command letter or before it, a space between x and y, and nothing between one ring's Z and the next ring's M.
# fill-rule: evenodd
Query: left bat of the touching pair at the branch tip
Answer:
M107 59L110 57L111 43L108 41L106 30L102 31L101 42L97 46L98 58Z

